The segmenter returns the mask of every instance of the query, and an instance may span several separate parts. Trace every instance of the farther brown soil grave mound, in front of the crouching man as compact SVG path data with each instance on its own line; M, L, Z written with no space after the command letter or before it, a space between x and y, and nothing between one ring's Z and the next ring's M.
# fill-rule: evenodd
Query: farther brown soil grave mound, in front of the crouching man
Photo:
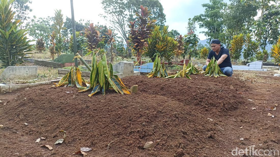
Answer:
M239 104L247 103L242 91L247 91L249 87L236 78L209 78L204 75L190 77L191 80L137 76L125 77L122 80L128 87L138 85L139 92L168 97L184 105L201 106L205 111L230 111L237 109Z

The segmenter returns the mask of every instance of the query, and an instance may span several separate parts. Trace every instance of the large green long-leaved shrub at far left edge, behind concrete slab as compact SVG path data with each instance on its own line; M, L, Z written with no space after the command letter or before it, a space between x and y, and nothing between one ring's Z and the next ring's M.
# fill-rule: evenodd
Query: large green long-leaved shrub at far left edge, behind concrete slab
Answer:
M27 39L27 30L20 29L20 20L14 20L12 11L13 0L0 1L0 68L17 66L24 63L26 54L32 51L30 40Z

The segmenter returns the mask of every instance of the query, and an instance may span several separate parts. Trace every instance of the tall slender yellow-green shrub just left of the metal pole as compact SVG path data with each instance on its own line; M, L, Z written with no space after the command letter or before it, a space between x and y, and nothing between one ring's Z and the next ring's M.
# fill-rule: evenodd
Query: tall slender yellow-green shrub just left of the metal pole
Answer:
M61 10L55 10L54 26L52 28L55 32L55 51L57 52L57 56L59 56L65 48L63 43L65 38L61 34L61 31L66 29L63 27L63 23L63 14Z

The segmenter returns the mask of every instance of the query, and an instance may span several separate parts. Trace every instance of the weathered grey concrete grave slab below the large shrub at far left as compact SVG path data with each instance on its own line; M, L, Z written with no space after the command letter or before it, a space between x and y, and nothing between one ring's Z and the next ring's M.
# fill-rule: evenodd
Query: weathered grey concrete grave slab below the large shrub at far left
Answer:
M9 66L0 76L1 80L37 77L37 66Z

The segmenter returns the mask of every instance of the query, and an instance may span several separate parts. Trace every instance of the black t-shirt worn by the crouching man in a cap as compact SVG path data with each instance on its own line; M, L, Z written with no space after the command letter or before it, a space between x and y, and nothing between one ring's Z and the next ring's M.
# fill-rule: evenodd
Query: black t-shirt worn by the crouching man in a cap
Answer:
M230 55L229 51L227 48L221 47L221 50L218 55L216 55L216 52L211 50L208 54L208 59L211 60L211 58L214 56L216 60L219 60L222 55L228 55L227 58L219 65L220 68L225 68L225 67L232 67L231 62L230 62Z

